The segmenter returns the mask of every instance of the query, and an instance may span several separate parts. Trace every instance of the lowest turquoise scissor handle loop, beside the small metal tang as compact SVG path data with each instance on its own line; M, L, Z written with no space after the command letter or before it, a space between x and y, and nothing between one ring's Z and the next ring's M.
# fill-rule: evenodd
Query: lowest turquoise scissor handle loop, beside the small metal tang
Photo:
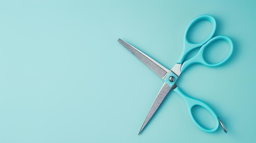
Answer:
M218 129L219 126L219 121L218 121L218 117L215 114L215 112L211 109L211 107L209 105L207 105L207 103L204 103L203 101L200 101L199 99L195 99L192 97L187 96L184 92L182 92L182 90L180 90L180 88L176 87L174 89L174 91L180 95L180 97L182 97L182 99L184 99L184 101L186 102L186 105L189 109L189 115L191 120L193 121L193 123L201 130L205 131L205 132L214 132ZM193 117L193 114L191 112L192 108L194 106L201 106L203 108L205 108L208 112L211 113L211 115L213 116L214 120L216 121L216 126L214 128L208 129L208 128L204 128L202 125L200 125Z

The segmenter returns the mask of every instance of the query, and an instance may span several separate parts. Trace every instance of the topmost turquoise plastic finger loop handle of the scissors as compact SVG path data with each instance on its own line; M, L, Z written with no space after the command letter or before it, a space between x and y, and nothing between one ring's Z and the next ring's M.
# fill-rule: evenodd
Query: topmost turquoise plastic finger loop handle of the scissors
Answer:
M193 24L195 24L196 22L200 21L200 20L209 20L212 24L212 28L211 28L211 32L208 35L208 37L203 40L202 42L199 43L191 43L189 42L189 40L187 39L187 33L189 31L189 29L191 28L191 26L193 26ZM184 35L184 44L183 44L183 49L182 49L182 53L180 55L180 58L178 59L177 63L182 64L184 58L186 57L186 55L193 50L194 48L200 47L203 44L205 44L208 40L211 39L211 37L213 37L213 34L215 33L215 29L216 29L216 21L215 19L211 16L211 15L199 15L198 17L196 17L195 19L192 20L192 22L189 24L189 26L186 29L185 35Z

